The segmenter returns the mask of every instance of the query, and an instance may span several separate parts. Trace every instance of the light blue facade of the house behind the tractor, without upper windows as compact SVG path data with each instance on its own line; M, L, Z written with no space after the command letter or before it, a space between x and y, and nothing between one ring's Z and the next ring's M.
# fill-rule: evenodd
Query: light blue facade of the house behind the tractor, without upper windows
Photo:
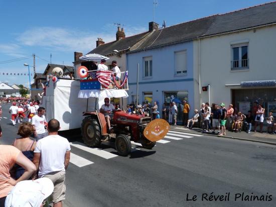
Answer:
M175 52L186 51L186 75L175 75ZM152 57L153 75L144 77L143 58ZM194 84L193 84L193 42L181 43L136 53L126 56L128 69L128 102L135 101L137 82L137 63L139 63L139 103L144 101L144 92L153 93L153 101L158 101L158 109L162 116L164 92L188 91L188 102L191 108L189 116L193 116ZM152 104L152 103L151 103Z

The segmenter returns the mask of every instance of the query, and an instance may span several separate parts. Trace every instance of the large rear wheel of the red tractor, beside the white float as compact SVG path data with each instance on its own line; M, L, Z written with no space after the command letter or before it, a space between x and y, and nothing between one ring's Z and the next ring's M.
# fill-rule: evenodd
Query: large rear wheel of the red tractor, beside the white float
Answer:
M92 117L85 117L81 124L81 135L84 144L89 147L96 147L101 144L101 131L97 120Z

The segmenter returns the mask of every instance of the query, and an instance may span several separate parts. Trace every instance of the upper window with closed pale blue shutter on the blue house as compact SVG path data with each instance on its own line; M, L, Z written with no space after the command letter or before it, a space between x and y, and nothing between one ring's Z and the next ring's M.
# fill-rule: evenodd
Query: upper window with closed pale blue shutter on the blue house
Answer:
M175 75L187 75L187 53L175 52Z

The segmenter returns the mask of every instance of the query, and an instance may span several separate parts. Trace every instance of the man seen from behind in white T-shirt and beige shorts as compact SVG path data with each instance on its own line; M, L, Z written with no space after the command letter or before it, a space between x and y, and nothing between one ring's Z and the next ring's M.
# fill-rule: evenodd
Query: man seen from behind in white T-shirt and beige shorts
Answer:
M62 206L65 199L65 171L70 161L70 144L64 137L58 135L59 121L52 119L48 123L49 136L39 140L34 151L33 162L39 169L39 177L47 177L54 184L52 201L54 207ZM32 178L35 179L36 173Z

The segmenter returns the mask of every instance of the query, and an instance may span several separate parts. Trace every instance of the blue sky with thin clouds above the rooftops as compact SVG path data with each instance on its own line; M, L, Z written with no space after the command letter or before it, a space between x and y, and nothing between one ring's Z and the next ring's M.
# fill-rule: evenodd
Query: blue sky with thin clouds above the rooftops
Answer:
M156 1L156 0L155 0ZM264 0L157 0L155 22L172 26L215 14L268 3ZM5 63L36 54L36 71L43 72L52 63L72 65L74 52L84 54L96 47L97 37L115 40L116 26L126 36L148 30L153 21L153 0L29 1L0 0L0 81L10 85L28 84L28 76L3 75L28 73L23 64L33 58ZM30 68L32 69L32 68Z

